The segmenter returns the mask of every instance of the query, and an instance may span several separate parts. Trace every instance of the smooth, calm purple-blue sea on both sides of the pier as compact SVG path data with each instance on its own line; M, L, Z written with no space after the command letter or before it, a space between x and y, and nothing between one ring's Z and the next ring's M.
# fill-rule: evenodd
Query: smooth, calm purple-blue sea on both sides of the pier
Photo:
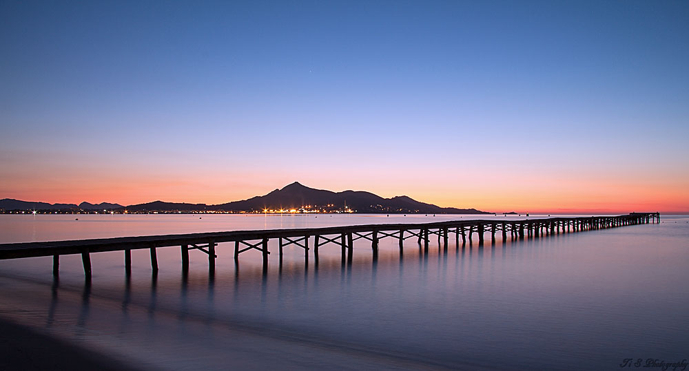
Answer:
M79 220L75 220L79 218ZM384 222L507 219L472 215L0 215L0 242L72 240ZM534 215L531 218L537 218ZM490 239L489 239L490 241ZM277 251L277 242L269 248ZM689 359L689 218L455 246L431 239L357 240L305 261L301 248L235 264L220 244L216 271L190 251L0 261L0 316L85 348L162 370L618 370L624 359ZM634 368L633 366L631 368ZM650 368L650 370L661 368ZM672 369L672 368L670 368ZM680 368L678 368L679 370Z

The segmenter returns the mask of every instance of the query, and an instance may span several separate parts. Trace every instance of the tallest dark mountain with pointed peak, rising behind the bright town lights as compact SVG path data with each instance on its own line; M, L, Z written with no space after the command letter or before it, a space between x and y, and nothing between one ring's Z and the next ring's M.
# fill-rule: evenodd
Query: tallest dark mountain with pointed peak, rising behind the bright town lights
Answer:
M333 192L324 189L305 187L294 182L282 189L276 189L267 195L256 196L248 200L228 202L209 206L212 210L224 211L261 211L263 209L299 209L302 206L319 206L325 209L349 209L358 213L457 213L489 214L476 209L455 209L418 202L407 196L382 198L364 191ZM327 206L332 205L332 206Z

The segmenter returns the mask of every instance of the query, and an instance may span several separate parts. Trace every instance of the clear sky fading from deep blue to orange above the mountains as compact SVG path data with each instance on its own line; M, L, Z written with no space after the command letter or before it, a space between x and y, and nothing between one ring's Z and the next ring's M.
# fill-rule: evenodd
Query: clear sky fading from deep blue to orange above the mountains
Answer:
M687 1L0 2L0 198L689 213Z

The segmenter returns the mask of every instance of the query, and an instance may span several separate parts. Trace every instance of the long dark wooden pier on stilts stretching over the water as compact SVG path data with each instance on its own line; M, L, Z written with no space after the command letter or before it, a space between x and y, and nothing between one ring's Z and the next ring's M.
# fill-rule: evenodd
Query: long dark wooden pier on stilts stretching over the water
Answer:
M153 235L142 237L117 237L94 240L73 240L53 242L25 242L17 244L0 244L0 259L19 259L23 257L53 257L53 275L59 275L60 255L81 254L85 277L91 279L91 253L105 251L124 251L125 273L132 271L132 250L148 248L151 253L151 266L154 274L158 272L156 249L179 246L181 248L182 271L189 271L189 251L198 250L208 255L211 271L215 270L216 246L223 242L234 242L234 258L240 253L252 249L263 255L263 267L267 268L269 240L278 240L278 254L282 259L285 246L294 244L304 249L305 257L309 250L318 259L318 249L326 244L340 246L342 264L351 264L354 241L364 239L371 242L373 257L378 256L378 242L385 237L399 240L400 249L404 240L416 238L419 246L426 251L429 248L431 235L438 237L438 244L447 248L449 235L454 234L457 246L473 243L477 236L479 246L485 241L486 234L495 244L495 235L502 235L502 242L526 238L538 238L559 233L592 231L597 229L627 226L632 224L659 223L660 213L630 213L619 216L592 216L585 218L532 218L524 220L453 220L422 224L369 224L356 226L333 226L311 229L269 229L261 231L229 231L212 233L191 233L183 235ZM313 237L313 238L312 238ZM309 246L309 241L313 244Z

